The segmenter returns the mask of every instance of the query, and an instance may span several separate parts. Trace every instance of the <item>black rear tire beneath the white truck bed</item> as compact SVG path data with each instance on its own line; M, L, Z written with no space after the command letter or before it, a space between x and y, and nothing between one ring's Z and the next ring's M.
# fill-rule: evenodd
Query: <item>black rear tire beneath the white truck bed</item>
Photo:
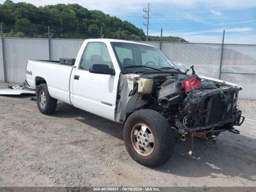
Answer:
M45 96L45 103L44 105L40 104L41 99L39 98L40 95L44 93ZM56 106L57 106L57 100L52 98L48 92L48 88L47 85L45 83L40 84L37 87L36 90L36 103L38 106L39 111L42 114L51 114L56 110Z

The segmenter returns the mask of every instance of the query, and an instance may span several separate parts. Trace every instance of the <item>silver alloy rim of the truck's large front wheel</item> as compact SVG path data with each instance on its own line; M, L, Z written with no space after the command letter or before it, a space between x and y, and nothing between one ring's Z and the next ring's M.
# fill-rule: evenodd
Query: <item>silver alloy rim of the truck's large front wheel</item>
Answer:
M142 156L149 156L154 151L154 135L145 124L138 123L132 127L131 140L134 150Z

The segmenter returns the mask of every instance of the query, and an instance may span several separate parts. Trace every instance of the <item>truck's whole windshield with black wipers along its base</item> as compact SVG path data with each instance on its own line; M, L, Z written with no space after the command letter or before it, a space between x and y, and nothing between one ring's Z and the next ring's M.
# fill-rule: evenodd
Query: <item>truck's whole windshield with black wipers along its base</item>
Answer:
M176 66L157 48L123 42L111 42L123 71L177 70ZM132 67L133 66L133 67Z

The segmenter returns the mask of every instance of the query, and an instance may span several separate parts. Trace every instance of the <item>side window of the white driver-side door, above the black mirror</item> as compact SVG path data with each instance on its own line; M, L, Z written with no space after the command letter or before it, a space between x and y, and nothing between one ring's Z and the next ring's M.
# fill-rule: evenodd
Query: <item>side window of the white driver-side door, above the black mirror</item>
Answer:
M113 68L106 44L102 42L88 42L79 69L89 70L93 64L106 64Z

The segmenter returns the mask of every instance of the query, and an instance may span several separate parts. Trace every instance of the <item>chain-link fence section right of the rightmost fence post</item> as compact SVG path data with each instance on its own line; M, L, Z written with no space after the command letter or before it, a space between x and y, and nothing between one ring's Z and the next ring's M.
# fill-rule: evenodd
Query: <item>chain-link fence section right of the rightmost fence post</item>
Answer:
M256 45L224 44L220 79L242 86L240 98L256 100Z

